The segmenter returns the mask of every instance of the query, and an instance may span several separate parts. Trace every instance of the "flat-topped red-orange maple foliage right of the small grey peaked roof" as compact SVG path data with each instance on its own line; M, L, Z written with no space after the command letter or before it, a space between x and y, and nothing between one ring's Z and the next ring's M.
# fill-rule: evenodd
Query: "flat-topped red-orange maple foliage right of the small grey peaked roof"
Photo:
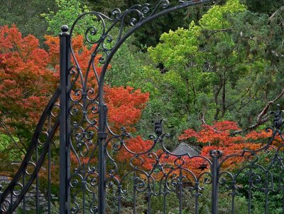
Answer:
M204 124L199 132L193 129L186 129L179 137L181 141L194 141L195 144L199 144L202 148L201 155L209 157L209 151L219 150L222 151L222 156L229 156L236 154L232 158L229 158L222 165L223 168L235 168L236 164L244 161L249 153L245 153L242 156L242 151L253 151L260 149L265 144L271 132L265 130L253 131L241 136L234 136L234 130L239 130L239 126L236 122L222 121L215 122L212 126Z

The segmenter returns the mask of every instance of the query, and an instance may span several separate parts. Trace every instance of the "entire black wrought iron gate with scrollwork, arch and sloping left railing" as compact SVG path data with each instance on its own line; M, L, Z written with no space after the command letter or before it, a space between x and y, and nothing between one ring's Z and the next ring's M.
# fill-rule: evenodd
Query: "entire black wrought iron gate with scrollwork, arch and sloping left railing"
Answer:
M82 14L69 33L68 27L62 26L60 87L40 118L18 172L1 193L0 213L15 210L22 213L239 213L236 205L241 201L237 196L241 191L246 193L247 213L253 213L253 191L256 190L263 193L264 213L268 213L271 194L279 195L279 208L284 213L284 138L279 107L273 127L267 129L271 133L267 144L255 151L244 149L229 156L224 156L222 151L210 151L208 157L171 153L165 146L169 134L163 132L160 119L155 121L155 134L149 137L150 146L137 153L126 143L131 138L126 129L115 133L108 124L104 77L119 47L138 28L155 18L207 2L175 1L171 5L161 0L154 6L134 5L124 12L114 9L111 17L97 12ZM86 16L94 16L99 26L89 26L85 31L87 43L97 45L87 67L82 68L71 41L75 27ZM131 27L125 28L126 22ZM111 36L114 26L119 26L119 32ZM276 138L278 144L273 144ZM52 183L56 160L51 147L57 141L60 141L60 179ZM116 154L121 150L131 155L124 168L116 161ZM265 154L266 160L261 162L259 154ZM227 161L244 159L237 171L224 168ZM195 161L202 163L199 166L203 167L202 173L185 167ZM148 168L144 167L146 164ZM246 181L246 186L239 185L241 180ZM53 187L58 184L60 192L55 193ZM29 192L35 196L33 201L28 199ZM218 207L222 200L219 195L223 193L229 194L230 210ZM40 194L45 196L45 202L40 201ZM207 211L202 207L206 202L201 200L209 201ZM169 210L168 204L173 202L176 207ZM55 208L56 203L59 210ZM146 207L140 208L141 203ZM157 204L160 208L154 213L153 206Z

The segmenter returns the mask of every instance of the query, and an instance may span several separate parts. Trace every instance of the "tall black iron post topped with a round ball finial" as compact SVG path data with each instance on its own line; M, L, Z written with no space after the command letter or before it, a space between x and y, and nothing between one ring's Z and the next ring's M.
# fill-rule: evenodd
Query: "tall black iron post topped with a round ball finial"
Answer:
M60 214L70 213L70 34L68 27L61 27L60 36Z

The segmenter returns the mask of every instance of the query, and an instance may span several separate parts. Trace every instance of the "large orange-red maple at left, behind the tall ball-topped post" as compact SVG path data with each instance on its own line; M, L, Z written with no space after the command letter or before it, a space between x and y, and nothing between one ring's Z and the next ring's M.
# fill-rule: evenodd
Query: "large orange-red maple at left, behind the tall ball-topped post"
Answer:
M45 38L47 50L40 48L35 36L23 37L16 26L0 28L0 121L13 136L26 142L31 139L33 129L59 81L59 38ZM72 48L81 69L86 70L95 45L88 48L84 45L83 36L75 36ZM95 61L99 61L99 55ZM99 63L95 64L100 73L102 68ZM90 76L89 80L89 84L97 88L94 77ZM131 127L140 119L149 94L133 87L106 85L105 98L111 125L115 129L133 129Z

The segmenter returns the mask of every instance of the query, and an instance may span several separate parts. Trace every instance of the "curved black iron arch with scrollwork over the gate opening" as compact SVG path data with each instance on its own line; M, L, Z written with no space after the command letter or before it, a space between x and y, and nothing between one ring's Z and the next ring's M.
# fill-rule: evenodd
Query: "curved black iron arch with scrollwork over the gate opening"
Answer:
M138 31L146 23L149 23L149 22L155 20L156 18L159 18L160 16L165 16L166 14L170 14L171 12L177 11L179 9L184 9L184 8L187 8L187 7L190 7L190 6L196 6L198 4L206 4L206 3L209 3L209 2L212 2L212 0L190 0L190 1L179 0L178 3L176 3L177 5L170 6L169 0L160 0L160 1L158 1L158 4L156 4L154 6L152 11L151 11L151 8L150 8L151 4L143 4L143 5L136 4L136 5L131 6L126 11L124 11L124 13L121 13L120 9L118 9L118 8L114 9L111 12L111 14L113 16L115 16L115 18L111 18L111 17L106 16L102 13L94 12L94 11L87 12L87 13L84 13L84 14L81 14L80 16L78 16L78 18L75 20L75 22L72 24L72 26L70 28L70 38L72 37L72 33L74 31L74 28L75 28L77 22L80 21L80 19L83 18L84 16L92 14L94 16L97 16L97 18L99 18L99 21L102 21L103 33L102 33L102 36L100 36L97 41L95 41L95 42L89 41L87 33L89 33L89 32L92 33L92 36L95 36L97 34L97 29L94 26L91 26L91 27L87 28L87 30L85 32L85 38L86 38L88 43L91 43L91 44L97 43L98 48L99 48L99 46L104 46L104 41L106 39L109 39L109 41L107 41L107 42L111 43L112 38L111 38L111 35L108 34L108 33L114 28L116 23L119 23L119 21L121 21L121 27L119 28L118 40L116 41L116 43L114 44L114 46L112 48L108 49L108 48L103 47L103 50L102 50L103 52L109 52L109 53L107 54L107 59L104 60L103 63L102 63L103 68L102 68L101 75L99 77L97 75L97 78L99 79L98 80L98 82L99 82L99 103L104 102L104 100L103 100L104 77L107 73L109 63L111 63L111 59L114 57L116 51L119 50L121 45L126 41L127 38L129 38L129 36L131 36L133 33ZM162 10L158 11L160 6L162 7ZM131 13L137 13L137 15L139 16L139 20L137 21L136 18L131 18L131 26L132 27L128 31L126 31L123 35L122 33L124 32L124 27L126 26L126 23L124 23L125 18L126 18L127 15L129 15ZM150 14L150 15L147 16L148 14ZM104 18L107 21L113 22L111 24L111 26L107 29L106 29L106 26L105 26ZM93 30L93 31L91 31L91 30ZM94 57L98 53L97 52L98 48L96 48L94 50L94 53L92 53L92 57ZM80 69L80 66L77 63L77 60L75 58L74 52L72 51L72 46L71 46L71 52L72 52L73 58L75 59L75 64ZM88 70L89 70L89 68L88 68Z

